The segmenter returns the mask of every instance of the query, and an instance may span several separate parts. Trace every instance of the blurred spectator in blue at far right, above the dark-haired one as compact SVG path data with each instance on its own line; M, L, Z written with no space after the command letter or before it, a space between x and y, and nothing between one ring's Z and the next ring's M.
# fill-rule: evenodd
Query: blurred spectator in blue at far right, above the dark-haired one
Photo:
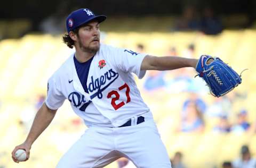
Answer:
M247 111L241 110L237 114L237 123L231 128L232 132L244 132L249 130L250 123L247 121Z

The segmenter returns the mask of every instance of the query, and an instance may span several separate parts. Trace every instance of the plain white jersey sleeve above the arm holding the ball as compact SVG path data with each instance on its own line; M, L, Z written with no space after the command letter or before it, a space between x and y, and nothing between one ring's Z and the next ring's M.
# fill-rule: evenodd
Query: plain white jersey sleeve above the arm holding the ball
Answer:
M65 96L57 87L56 81L53 78L50 78L47 83L47 97L45 100L46 106L51 110L57 110L62 106L65 99Z

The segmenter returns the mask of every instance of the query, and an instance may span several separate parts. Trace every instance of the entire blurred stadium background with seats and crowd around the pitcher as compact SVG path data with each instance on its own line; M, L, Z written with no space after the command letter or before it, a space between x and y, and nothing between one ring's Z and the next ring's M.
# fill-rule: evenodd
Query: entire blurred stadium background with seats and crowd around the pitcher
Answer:
M101 42L139 53L221 57L242 85L215 98L191 68L148 71L137 85L174 168L256 167L256 1L4 1L0 6L0 167L54 167L86 129L60 108L27 162L12 162L44 102L47 79L71 54L65 19L88 7L108 16ZM154 144L153 144L154 145ZM134 167L121 158L109 168Z

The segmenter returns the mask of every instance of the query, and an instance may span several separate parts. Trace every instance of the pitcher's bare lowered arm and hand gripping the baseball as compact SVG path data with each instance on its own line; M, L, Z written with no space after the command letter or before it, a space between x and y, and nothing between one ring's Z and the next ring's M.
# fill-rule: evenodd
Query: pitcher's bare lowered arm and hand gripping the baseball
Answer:
M16 146L12 151L12 159L14 162L19 163L19 161L15 158L15 152L18 149L26 150L27 159L29 158L30 148L34 141L41 135L41 133L48 127L48 125L53 120L57 110L51 110L49 107L46 106L44 103L41 108L39 108L38 112L36 113L34 122L32 127L28 133L27 139L19 146Z

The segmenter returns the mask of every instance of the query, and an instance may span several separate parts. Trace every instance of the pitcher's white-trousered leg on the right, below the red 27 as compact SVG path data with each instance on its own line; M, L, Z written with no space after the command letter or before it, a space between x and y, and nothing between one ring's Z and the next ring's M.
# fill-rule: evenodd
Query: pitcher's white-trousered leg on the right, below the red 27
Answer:
M118 149L141 168L170 168L171 162L153 120L119 130Z

